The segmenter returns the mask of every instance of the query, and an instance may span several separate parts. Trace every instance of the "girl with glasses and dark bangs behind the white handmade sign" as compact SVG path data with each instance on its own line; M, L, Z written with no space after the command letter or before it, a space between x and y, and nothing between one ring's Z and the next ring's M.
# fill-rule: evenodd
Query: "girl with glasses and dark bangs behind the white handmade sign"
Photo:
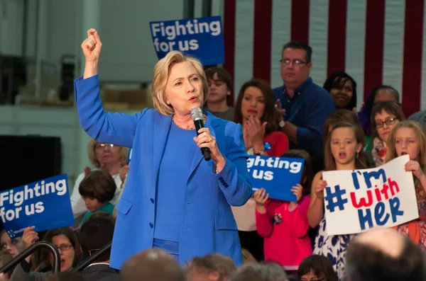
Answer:
M386 163L386 151L388 151L386 142L388 142L393 127L404 120L403 110L395 101L382 101L374 105L371 111L372 149L371 154L367 153L371 166L378 167Z

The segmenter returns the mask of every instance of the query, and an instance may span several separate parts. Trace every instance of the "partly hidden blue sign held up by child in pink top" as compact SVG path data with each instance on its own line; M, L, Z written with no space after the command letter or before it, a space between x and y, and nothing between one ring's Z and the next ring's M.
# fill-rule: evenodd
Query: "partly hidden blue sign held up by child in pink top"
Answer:
M302 158L249 156L247 168L253 190L265 188L270 198L295 202L291 188L300 183L304 163Z

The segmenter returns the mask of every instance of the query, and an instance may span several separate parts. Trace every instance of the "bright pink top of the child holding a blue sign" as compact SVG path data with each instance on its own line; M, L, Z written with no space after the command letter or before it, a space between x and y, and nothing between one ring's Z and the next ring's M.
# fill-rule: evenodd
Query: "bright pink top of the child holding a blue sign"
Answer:
M268 200L265 214L256 211L256 230L265 238L265 260L280 263L286 270L297 270L302 260L312 255L307 236L309 202L310 197L303 196L294 210L288 210L290 202ZM283 217L280 224L274 224L275 214Z

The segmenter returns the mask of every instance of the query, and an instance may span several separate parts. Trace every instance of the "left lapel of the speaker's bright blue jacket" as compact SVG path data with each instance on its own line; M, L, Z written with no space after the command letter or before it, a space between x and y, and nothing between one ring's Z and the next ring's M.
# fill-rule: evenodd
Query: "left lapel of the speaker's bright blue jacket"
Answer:
M153 137L153 168L154 168L154 186L157 185L158 170L160 169L161 159L165 149L165 142L167 141L170 132L170 125L172 124L172 117L165 116L158 113L154 120L154 137Z

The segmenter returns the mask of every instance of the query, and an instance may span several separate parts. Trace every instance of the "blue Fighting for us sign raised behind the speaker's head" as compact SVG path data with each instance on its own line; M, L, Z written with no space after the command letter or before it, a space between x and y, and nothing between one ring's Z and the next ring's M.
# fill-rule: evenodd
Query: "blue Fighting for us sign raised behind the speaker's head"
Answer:
M178 50L197 57L204 65L225 62L224 34L220 16L178 21L150 22L158 59Z

